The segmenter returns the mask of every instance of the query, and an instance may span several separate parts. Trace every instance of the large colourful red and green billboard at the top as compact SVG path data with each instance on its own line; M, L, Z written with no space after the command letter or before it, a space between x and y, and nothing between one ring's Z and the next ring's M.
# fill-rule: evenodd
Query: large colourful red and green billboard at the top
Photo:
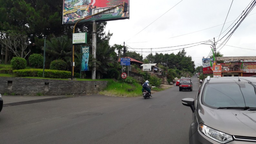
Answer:
M129 0L63 0L62 24L75 24L86 16L103 11L109 7L123 5L123 2L128 4L127 12L123 12L123 6L119 6L115 10L94 15L79 21L79 23L129 19Z

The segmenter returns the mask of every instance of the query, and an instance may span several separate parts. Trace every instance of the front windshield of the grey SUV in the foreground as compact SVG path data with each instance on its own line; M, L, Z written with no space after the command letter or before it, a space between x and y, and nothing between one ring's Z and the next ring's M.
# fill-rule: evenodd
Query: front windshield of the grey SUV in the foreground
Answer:
M256 108L256 83L206 83L202 103L211 107Z

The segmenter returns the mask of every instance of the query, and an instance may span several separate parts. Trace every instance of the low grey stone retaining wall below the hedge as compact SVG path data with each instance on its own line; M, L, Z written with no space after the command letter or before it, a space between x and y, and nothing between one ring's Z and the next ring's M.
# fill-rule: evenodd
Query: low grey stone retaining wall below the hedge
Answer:
M15 95L97 94L107 81L76 81L0 77L0 93Z

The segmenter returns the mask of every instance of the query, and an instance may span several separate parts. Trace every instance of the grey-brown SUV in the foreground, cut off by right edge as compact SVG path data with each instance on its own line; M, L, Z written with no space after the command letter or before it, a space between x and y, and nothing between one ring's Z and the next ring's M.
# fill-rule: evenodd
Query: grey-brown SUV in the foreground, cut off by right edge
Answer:
M256 143L256 78L208 76L195 100L182 99L193 112L190 144Z

